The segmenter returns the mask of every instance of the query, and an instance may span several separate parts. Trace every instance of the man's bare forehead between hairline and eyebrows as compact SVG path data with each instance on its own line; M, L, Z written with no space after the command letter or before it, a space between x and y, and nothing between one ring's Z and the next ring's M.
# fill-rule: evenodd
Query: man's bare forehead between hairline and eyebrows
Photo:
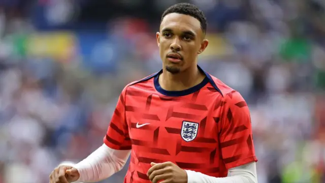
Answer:
M165 28L170 28L175 32L191 31L197 34L202 32L201 23L198 19L179 13L171 13L164 17L160 23L160 31Z

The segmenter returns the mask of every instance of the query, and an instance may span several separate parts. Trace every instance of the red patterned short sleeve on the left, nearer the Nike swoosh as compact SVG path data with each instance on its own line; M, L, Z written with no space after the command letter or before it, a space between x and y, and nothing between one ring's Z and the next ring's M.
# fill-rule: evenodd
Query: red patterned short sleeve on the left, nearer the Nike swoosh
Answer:
M119 96L115 111L112 115L110 125L104 137L104 143L113 149L128 150L131 149L131 140L128 135L128 126L125 119L125 93L124 87Z

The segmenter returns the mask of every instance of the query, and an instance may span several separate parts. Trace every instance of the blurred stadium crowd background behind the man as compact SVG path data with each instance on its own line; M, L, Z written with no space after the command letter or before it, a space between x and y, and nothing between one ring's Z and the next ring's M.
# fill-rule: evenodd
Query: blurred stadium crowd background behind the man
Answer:
M0 183L48 182L103 143L125 84L161 69L155 32L180 2L208 19L200 66L250 107L258 182L325 182L323 0L0 0Z

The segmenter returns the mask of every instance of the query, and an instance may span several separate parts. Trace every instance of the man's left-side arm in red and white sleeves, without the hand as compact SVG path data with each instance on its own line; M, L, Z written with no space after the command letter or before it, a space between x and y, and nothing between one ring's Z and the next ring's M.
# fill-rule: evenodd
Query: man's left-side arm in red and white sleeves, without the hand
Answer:
M118 99L104 144L75 166L80 174L78 181L95 182L108 178L125 165L131 152L125 120L125 92L126 87Z

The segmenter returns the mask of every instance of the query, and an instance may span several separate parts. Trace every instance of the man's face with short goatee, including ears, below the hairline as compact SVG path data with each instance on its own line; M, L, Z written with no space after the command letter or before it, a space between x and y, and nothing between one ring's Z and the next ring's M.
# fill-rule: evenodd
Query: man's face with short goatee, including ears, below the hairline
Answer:
M198 19L178 13L166 15L156 34L163 67L172 74L197 67L198 54L208 46L204 36Z

